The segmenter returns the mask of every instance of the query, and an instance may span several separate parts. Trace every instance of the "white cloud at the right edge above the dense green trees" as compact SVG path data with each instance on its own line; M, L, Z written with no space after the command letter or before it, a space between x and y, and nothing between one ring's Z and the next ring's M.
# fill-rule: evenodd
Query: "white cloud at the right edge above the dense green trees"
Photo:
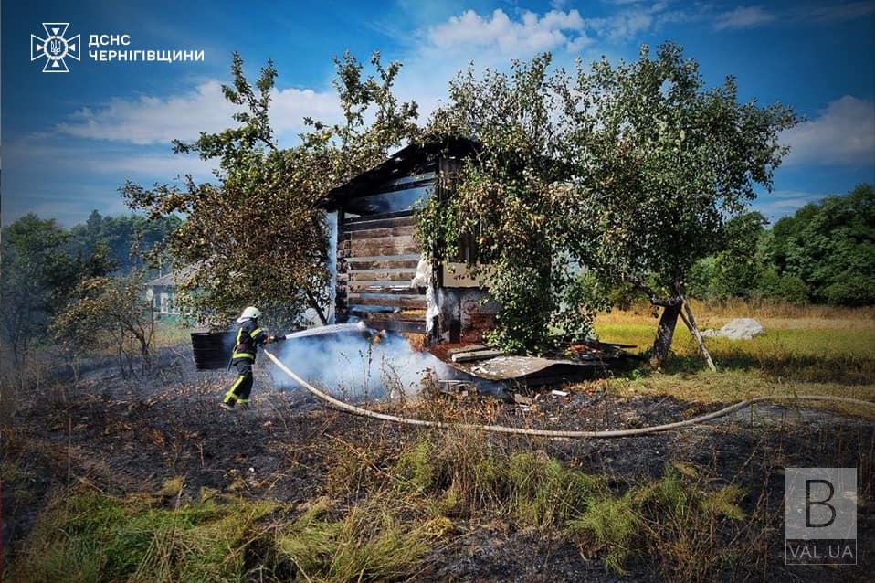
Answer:
M781 138L787 165L875 164L875 102L846 95Z

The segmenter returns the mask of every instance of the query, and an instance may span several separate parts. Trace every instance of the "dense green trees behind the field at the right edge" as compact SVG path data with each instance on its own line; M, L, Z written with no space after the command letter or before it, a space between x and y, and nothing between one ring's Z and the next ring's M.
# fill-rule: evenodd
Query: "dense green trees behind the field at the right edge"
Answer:
M691 271L690 294L875 305L875 187L859 185L766 225L758 212L730 220L724 250Z

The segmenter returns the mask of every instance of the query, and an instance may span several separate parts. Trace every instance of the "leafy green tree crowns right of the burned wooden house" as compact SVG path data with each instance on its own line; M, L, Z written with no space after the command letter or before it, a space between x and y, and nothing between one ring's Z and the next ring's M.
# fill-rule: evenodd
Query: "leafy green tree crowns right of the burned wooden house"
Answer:
M593 294L571 291L581 270L602 282L602 302L621 283L680 302L695 262L721 249L727 217L754 185L771 187L786 153L778 134L798 120L780 104L739 102L732 78L707 89L672 43L574 75L549 65L543 55L451 83L429 132L482 147L418 231L438 255L477 242L500 306L492 341L530 352L555 331L591 329Z

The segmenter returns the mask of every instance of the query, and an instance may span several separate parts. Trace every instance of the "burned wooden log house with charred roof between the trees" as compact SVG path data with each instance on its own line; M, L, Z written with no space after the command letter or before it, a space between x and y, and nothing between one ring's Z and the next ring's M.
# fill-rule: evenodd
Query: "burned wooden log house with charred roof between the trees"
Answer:
M414 143L324 199L336 213L335 322L359 319L378 330L424 334L429 344L480 341L495 306L461 257L427 257L414 212L431 196L452 196L453 177L476 144Z

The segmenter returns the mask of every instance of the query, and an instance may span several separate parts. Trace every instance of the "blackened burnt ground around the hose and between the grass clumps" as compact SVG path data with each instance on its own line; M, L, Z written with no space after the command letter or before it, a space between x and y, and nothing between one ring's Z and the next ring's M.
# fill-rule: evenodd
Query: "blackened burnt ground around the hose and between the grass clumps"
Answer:
M160 375L123 380L108 363L94 363L75 386L44 389L19 399L4 428L5 558L52 495L78 482L111 493L155 491L184 477L184 496L211 489L252 499L299 503L320 495L338 441L412 440L417 429L354 418L322 408L301 389L269 388L257 377L255 410L228 413L217 407L230 381L223 372L199 373L186 355L166 352ZM264 363L260 363L262 367ZM64 394L66 392L66 395ZM675 398L622 398L594 389L567 397L549 392L527 407L493 401L459 401L466 420L549 429L632 428L689 419L720 408ZM423 413L420 411L420 413ZM412 415L408 411L409 415ZM646 438L542 440L488 435L496 446L544 451L585 472L606 473L619 484L658 477L670 461L709 470L712 480L738 482L754 507L774 516L762 572L735 572L728 580L866 580L873 573L875 518L870 422L807 408L744 410L709 426ZM6 463L9 462L9 463ZM858 467L859 567L785 567L783 496L785 467ZM416 580L615 581L659 580L646 560L627 577L606 571L600 557L585 557L562 536L514 530L489 516L459 525L429 557Z

